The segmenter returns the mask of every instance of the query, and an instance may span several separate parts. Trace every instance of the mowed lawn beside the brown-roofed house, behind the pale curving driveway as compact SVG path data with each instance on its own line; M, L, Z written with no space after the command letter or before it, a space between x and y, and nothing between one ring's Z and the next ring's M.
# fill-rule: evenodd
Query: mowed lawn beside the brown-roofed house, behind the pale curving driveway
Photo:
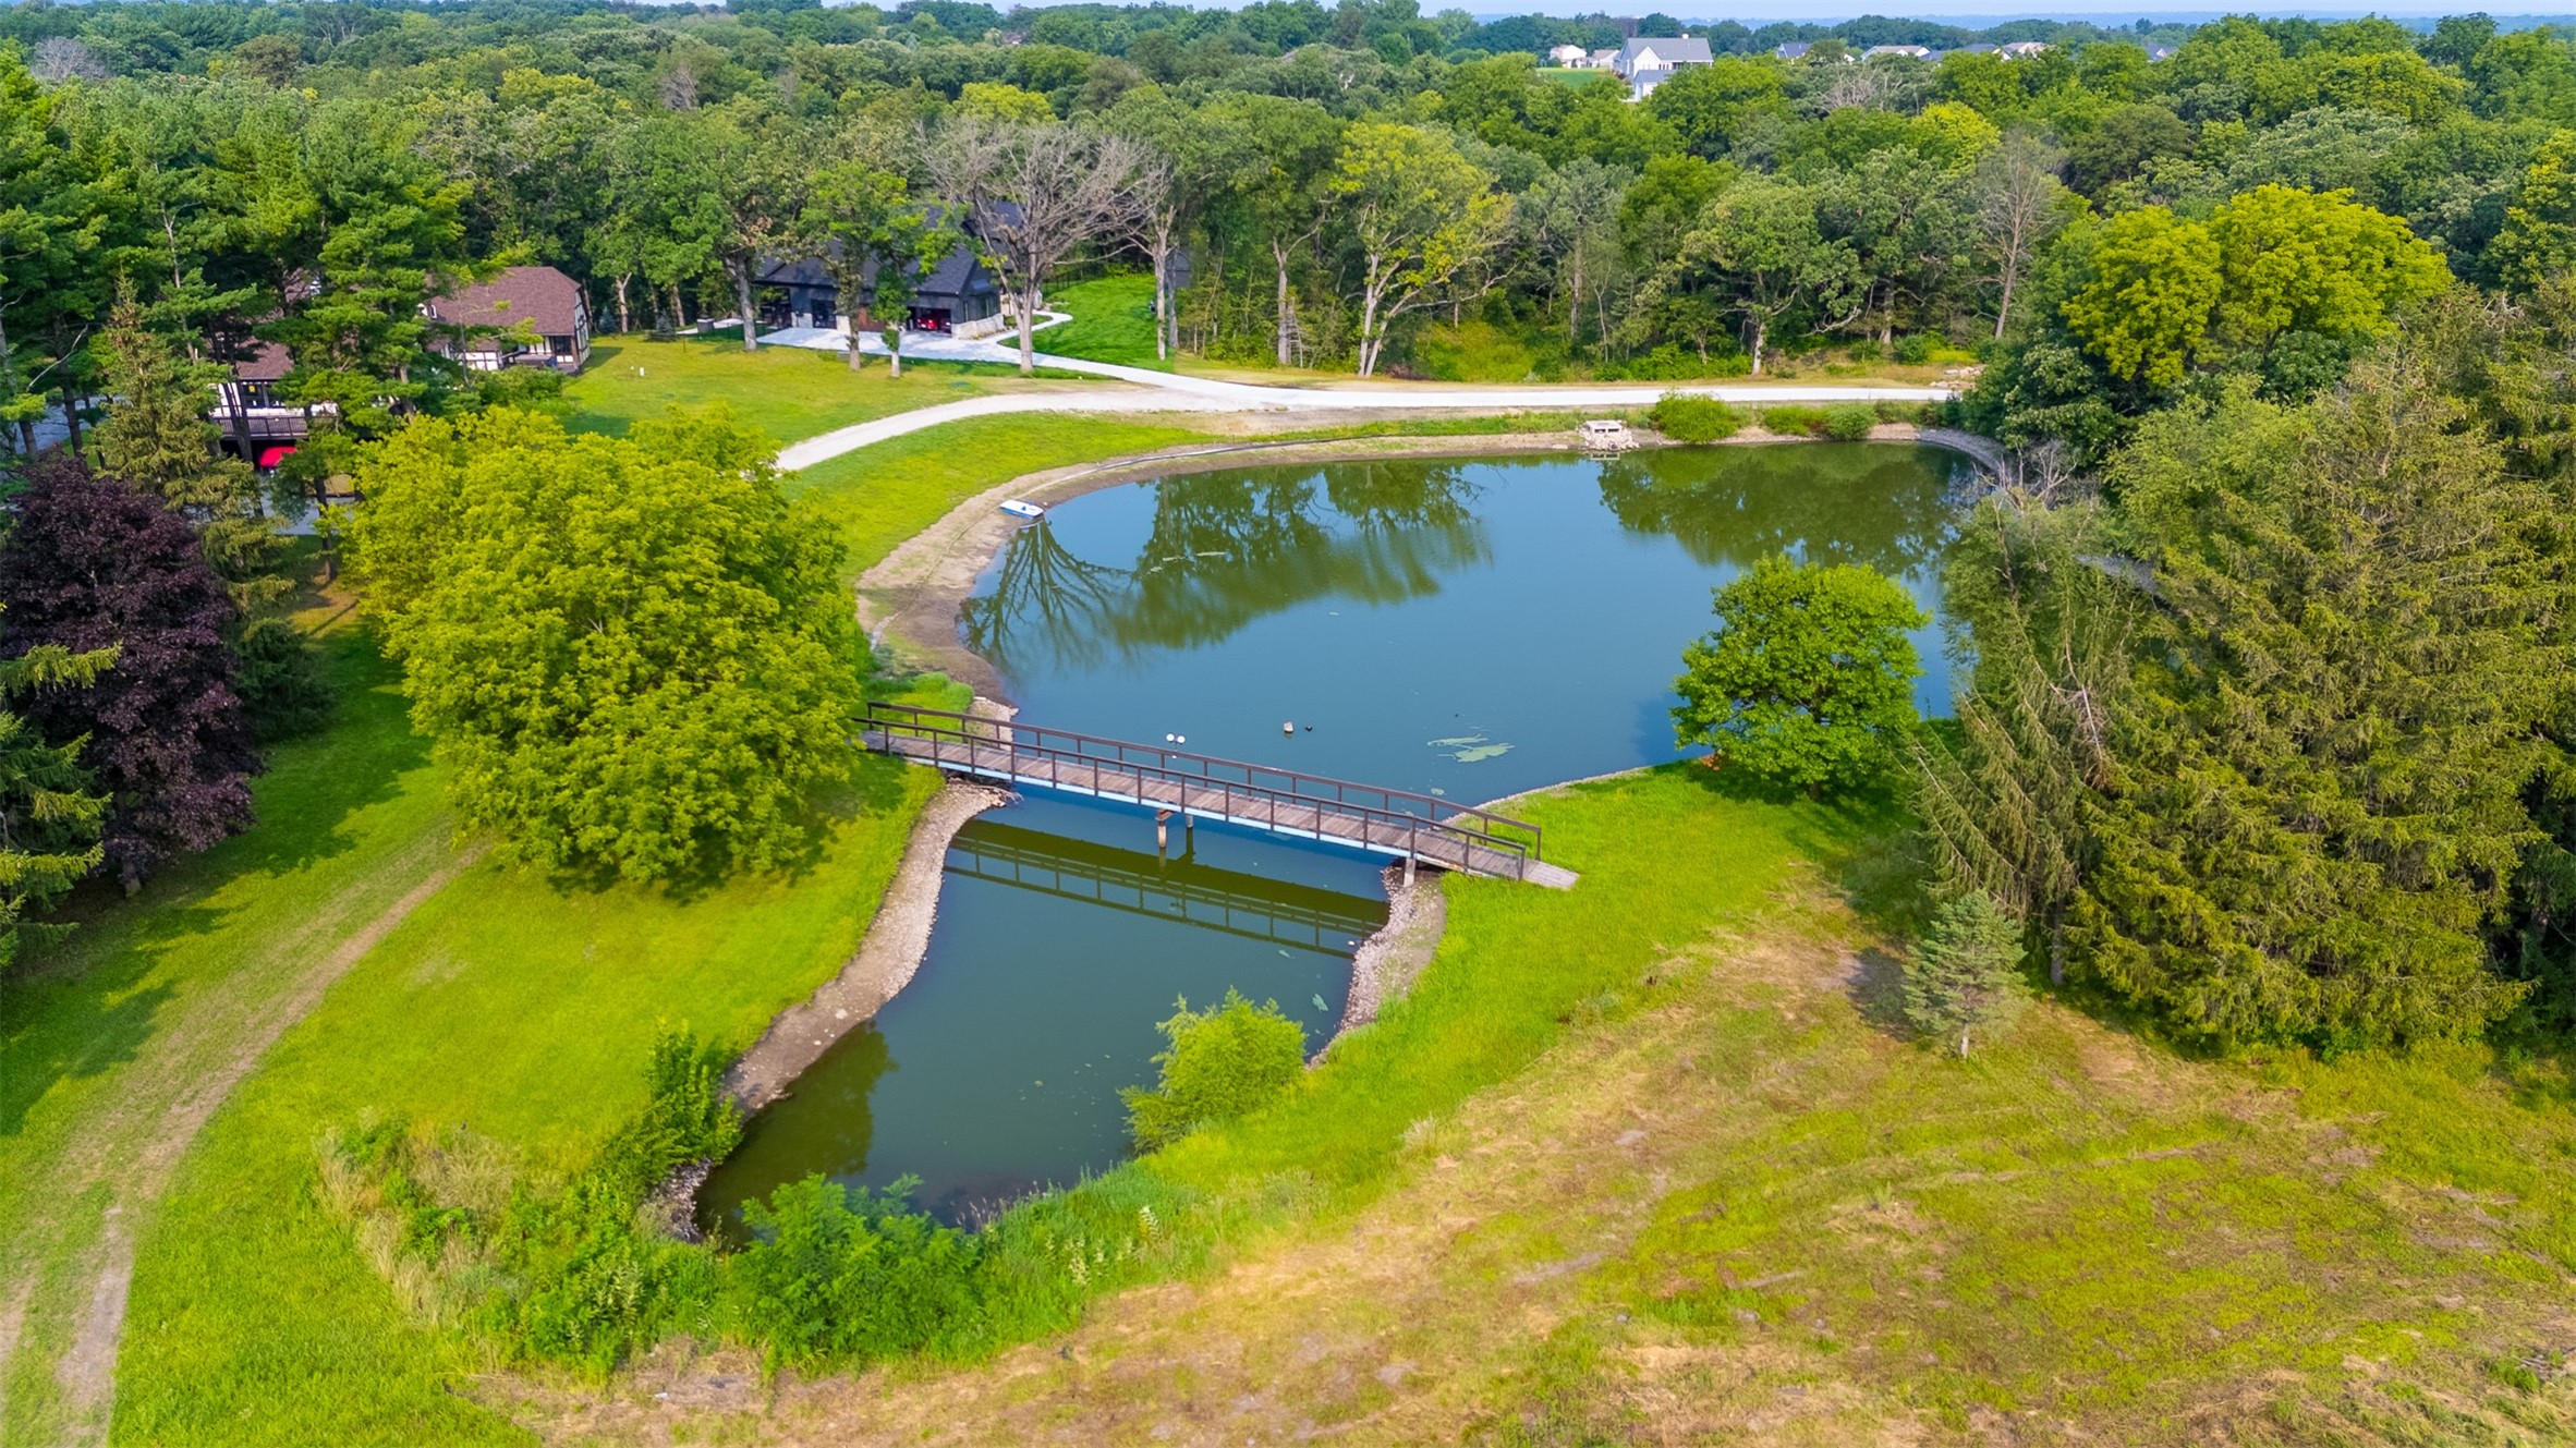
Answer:
M667 407L706 407L721 402L737 417L778 443L796 443L848 428L976 397L1012 386L1010 368L966 363L907 363L904 376L889 376L886 358L871 358L850 371L842 353L806 348L742 350L742 338L600 338L590 366L564 384L572 405L567 425L577 433L626 433L641 417Z

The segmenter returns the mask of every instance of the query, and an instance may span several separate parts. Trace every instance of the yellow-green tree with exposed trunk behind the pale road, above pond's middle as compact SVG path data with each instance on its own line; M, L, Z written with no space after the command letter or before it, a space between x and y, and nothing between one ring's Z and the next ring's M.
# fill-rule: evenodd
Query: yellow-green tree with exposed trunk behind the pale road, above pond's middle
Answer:
M1448 139L1363 121L1342 139L1324 196L1350 229L1360 281L1360 376L1376 376L1396 317L1502 242L1512 204Z

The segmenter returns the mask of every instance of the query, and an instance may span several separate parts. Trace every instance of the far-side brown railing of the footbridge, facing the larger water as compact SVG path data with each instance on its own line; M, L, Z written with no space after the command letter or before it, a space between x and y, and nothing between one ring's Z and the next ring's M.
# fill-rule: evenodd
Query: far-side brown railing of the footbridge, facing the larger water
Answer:
M1406 788L1386 788L1376 783L1355 783L1329 776L1311 776L1303 770L1288 770L1280 765L1255 765L1247 760L1226 760L1218 755L1193 755L1188 750L1172 750L1164 745L1136 745L1128 739L1105 739L1100 734L1079 734L1074 729L1048 729L1043 724L1018 724L984 719L976 714L958 714L953 709L922 709L914 703L868 703L860 716L860 729L884 737L909 737L927 739L933 745L933 757L940 757L948 745L956 745L958 760L966 763L976 745L999 745L1020 755L1048 757L1059 765L1097 765L1128 770L1139 778L1159 778L1206 791L1224 791L1221 799L1234 799L1236 791L1247 801L1288 801L1329 806L1345 817L1360 817L1373 824L1391 824L1406 832L1430 832L1435 837L1450 837L1468 848L1494 850L1512 855L1517 866L1510 873L1520 873L1528 861L1540 858L1540 832L1538 824L1525 819L1512 819L1507 814L1494 814L1492 809L1476 809L1473 804L1455 804L1435 794L1414 794ZM1097 778L1097 776L1095 776ZM1193 801L1195 806L1195 801ZM1249 809L1229 814L1249 817ZM1417 855L1422 850L1414 850Z

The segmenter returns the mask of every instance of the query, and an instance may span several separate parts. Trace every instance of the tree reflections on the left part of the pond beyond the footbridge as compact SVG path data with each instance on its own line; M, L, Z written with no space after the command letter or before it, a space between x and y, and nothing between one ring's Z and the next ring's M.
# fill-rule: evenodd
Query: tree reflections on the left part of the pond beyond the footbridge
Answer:
M1453 461L1164 479L1133 562L1079 559L1046 520L1020 528L989 587L958 611L961 631L1007 675L1038 660L1097 667L1216 644L1327 595L1422 598L1443 575L1489 559L1476 495Z

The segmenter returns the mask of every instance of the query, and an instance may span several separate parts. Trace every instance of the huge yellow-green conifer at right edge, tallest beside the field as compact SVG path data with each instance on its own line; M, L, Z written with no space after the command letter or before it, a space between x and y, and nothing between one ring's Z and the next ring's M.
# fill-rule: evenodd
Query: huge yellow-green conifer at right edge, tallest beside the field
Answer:
M2156 605L2079 953L2215 1041L2486 1028L2563 701L2553 492L2411 350L2306 407L2148 417L2112 482Z

